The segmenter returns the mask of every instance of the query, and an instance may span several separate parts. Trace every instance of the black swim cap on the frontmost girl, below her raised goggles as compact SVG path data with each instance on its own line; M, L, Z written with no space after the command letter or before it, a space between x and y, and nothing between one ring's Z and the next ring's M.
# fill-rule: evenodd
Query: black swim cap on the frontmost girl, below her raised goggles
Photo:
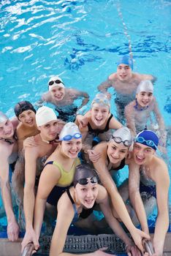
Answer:
M96 177L97 181L99 181L99 177L94 168L87 164L77 165L75 168L75 176L73 178L74 187L77 185L80 179L92 177Z

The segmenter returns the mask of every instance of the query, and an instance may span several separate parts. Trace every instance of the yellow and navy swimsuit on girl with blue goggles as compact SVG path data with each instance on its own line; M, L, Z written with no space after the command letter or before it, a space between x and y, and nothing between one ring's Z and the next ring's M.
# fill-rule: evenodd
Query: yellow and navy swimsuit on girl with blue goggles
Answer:
M56 161L47 162L45 166L46 165L55 165L56 167L58 167L58 170L61 173L61 177L58 180L58 186L53 187L50 195L47 197L47 203L50 203L53 206L57 206L58 200L61 195L66 191L67 188L72 186L72 181L75 174L75 167L77 167L77 165L80 165L80 159L75 159L75 162L73 163L69 172L66 172L66 170L64 170L64 168Z

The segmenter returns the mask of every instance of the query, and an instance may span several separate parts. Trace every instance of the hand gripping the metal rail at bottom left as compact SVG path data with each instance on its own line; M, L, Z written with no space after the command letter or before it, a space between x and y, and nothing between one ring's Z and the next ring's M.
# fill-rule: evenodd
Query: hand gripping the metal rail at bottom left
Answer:
M26 245L31 242L34 243L35 250L39 249L39 241L37 239L36 233L34 232L33 228L26 230L25 236L21 243L21 252L23 252L23 249L26 247Z

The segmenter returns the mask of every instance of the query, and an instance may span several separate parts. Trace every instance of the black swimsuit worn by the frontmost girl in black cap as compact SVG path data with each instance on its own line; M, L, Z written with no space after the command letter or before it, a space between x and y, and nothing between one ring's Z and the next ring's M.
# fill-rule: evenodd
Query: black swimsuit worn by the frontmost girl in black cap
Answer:
M89 208L89 209L83 208L82 212L80 214L78 214L77 213L77 207L75 206L75 202L74 202L74 200L73 200L73 198L72 198L72 196L69 192L69 189L66 189L66 193L69 196L69 199L71 200L72 206L73 206L74 211L75 211L75 216L72 219L72 223L77 222L77 220L79 218L86 219L88 216L90 216L92 214L92 212L94 211L94 207L96 206L96 202L94 203L94 206L92 208Z

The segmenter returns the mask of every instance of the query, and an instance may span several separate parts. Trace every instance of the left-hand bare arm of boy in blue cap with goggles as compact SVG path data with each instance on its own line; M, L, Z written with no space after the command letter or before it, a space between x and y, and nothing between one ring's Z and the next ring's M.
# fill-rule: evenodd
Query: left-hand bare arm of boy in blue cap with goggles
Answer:
M140 166L134 162L129 163L129 199L140 221L142 230L149 233L145 208L140 196Z

